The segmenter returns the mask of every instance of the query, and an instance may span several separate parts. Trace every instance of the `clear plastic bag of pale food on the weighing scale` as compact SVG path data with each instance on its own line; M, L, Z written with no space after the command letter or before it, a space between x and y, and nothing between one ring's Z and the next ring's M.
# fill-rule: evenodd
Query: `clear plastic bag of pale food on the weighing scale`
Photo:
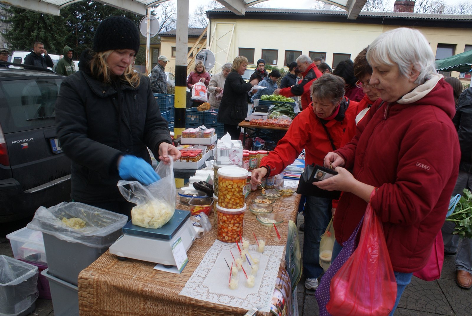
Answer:
M160 228L174 215L177 190L173 165L172 158L169 164L160 162L156 168L160 180L149 186L143 186L138 181L118 181L121 195L136 204L131 209L131 221L134 225Z

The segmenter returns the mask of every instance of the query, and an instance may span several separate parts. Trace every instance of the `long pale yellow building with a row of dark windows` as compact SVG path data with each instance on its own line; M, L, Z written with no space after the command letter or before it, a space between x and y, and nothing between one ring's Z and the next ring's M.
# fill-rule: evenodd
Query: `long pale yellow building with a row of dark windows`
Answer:
M260 58L282 68L301 54L321 57L336 67L341 60L354 60L379 34L397 27L420 30L437 59L472 49L471 15L361 12L348 20L347 13L338 10L247 8L244 16L236 16L220 8L207 11L207 17L208 49L216 56L213 73L238 55L247 57L250 68ZM470 74L460 77L464 84L470 83Z

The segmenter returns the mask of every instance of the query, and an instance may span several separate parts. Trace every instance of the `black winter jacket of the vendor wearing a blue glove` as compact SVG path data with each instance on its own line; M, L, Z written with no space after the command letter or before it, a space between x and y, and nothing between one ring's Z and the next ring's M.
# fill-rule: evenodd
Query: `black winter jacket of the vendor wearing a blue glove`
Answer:
M90 54L83 56L81 65L87 66ZM162 142L172 144L147 77L141 76L137 88L125 82L106 85L91 76L89 67L62 83L56 127L72 160L71 197L83 203L125 201L117 187L119 156L135 155L151 163L146 146L158 157Z

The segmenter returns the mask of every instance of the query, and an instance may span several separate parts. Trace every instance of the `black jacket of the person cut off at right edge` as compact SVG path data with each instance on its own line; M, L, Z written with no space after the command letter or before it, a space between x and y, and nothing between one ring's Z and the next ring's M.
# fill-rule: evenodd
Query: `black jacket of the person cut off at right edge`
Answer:
M461 146L459 170L472 172L472 87L459 97L459 105L452 119Z

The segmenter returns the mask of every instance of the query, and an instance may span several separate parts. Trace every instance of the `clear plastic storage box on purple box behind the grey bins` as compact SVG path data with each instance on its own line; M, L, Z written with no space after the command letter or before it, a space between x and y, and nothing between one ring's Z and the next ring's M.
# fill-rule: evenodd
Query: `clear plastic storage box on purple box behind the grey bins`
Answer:
M18 231L9 233L7 238L10 239L11 250L13 250L15 259L48 265L41 231L33 231L23 227Z

